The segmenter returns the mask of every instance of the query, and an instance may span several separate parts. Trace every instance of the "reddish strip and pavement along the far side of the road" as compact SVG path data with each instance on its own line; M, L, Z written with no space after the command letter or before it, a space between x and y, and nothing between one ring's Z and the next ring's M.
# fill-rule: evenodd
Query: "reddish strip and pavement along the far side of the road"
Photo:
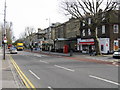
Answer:
M28 52L31 52L30 50L26 50ZM82 54L80 52L73 52L72 55L70 53L58 53L58 52L49 52L49 51L37 51L33 50L34 53L42 53L47 55L57 55L57 56L66 56L66 57L73 57L73 58L86 58L91 60L98 60L98 61L106 61L106 62L120 62L120 59L113 58L112 54L108 55L100 55L100 56L90 56L90 54Z

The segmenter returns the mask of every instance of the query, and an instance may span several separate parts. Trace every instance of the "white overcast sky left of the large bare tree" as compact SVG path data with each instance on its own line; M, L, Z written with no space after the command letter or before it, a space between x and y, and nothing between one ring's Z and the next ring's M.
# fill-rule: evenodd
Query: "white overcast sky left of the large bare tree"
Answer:
M0 0L0 22L3 21L4 1ZM59 10L58 0L6 0L6 21L13 22L16 38L24 32L25 27L46 28L51 23L65 22L68 18Z

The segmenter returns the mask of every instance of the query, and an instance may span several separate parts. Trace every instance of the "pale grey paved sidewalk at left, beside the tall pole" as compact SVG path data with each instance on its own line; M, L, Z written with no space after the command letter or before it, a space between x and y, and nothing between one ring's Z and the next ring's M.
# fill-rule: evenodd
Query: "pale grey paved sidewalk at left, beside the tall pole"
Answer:
M20 88L17 74L6 54L6 60L2 59L2 50L0 49L0 60L2 62L2 88Z

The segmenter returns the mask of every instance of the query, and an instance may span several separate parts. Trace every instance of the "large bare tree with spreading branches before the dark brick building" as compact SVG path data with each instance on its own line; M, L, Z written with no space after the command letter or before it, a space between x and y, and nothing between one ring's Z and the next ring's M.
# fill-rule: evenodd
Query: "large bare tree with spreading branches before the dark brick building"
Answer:
M106 19L107 12L116 8L114 0L65 0L62 2L62 8L68 15L78 18L80 22L86 24L91 29L95 42L95 51L101 55L99 39L97 36L97 27ZM91 17L92 24L88 23L86 18Z

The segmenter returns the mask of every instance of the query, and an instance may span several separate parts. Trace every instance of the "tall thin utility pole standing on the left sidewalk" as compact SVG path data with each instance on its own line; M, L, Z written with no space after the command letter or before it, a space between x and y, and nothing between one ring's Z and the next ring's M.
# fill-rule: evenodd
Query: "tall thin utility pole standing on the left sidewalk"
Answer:
M5 41L6 38L6 0L4 5L4 31L3 31L3 60L5 60Z

